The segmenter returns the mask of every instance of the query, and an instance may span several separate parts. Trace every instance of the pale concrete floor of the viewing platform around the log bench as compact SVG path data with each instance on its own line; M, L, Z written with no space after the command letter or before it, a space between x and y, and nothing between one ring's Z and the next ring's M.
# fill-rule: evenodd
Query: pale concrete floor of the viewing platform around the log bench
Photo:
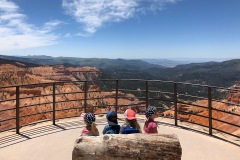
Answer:
M137 115L141 128L144 116ZM119 115L123 119L123 115ZM158 133L176 134L182 147L182 160L239 160L239 139L227 140L216 138L198 132L204 128L194 128L196 125L184 127L174 126L174 120L157 118L159 122ZM96 115L97 128L102 134L107 124L105 115ZM123 121L119 120L122 125ZM0 133L0 159L1 160L71 160L74 141L79 136L84 122L81 117L61 119L52 122L42 122L21 128L20 134L15 130Z

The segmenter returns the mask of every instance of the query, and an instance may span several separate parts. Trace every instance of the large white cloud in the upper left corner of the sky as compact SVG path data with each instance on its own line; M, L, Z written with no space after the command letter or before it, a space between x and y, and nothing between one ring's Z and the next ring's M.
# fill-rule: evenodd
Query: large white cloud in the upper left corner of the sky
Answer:
M52 31L61 22L54 20L36 27L26 22L26 15L19 6L9 0L0 0L0 52L49 46L55 44L58 35Z

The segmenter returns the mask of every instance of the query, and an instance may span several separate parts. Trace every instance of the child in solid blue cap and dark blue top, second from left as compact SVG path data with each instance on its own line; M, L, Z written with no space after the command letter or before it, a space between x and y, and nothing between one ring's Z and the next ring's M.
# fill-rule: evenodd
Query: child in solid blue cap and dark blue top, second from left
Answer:
M108 125L103 129L103 134L119 134L120 126L118 125L117 112L110 110L108 111L106 118Z

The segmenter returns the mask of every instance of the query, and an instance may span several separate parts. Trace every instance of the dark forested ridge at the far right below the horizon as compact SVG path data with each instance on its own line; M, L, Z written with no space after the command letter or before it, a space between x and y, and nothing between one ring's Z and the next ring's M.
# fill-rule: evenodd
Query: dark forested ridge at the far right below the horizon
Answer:
M229 87L240 81L240 59L178 65L152 74L171 81Z

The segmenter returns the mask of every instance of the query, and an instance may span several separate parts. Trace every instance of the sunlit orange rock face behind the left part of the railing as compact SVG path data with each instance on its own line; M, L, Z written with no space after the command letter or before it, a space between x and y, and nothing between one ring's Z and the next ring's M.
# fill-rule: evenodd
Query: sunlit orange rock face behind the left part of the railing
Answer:
M13 64L0 65L1 81L0 86L12 86L12 85L24 85L24 84L36 84L47 83L55 81L76 81L76 80L94 80L98 78L100 72L95 67L67 67L63 65L57 66L39 66L39 67L26 67L24 64L18 66ZM75 94L61 94L56 95L56 101L64 101L56 103L56 110L62 110L56 112L56 118L79 116L84 107L84 84L83 83L62 83L56 85L56 94L69 93L69 92L82 92ZM20 125L26 125L32 122L41 120L52 119L52 97L53 86L52 84L42 84L35 86L20 87ZM42 96L48 95L49 96ZM101 87L96 84L88 85L87 93L87 112L94 112L96 114L106 113L110 109L115 109L115 91L103 92ZM136 104L140 101L132 94L121 93L119 96L123 98L118 99L119 105ZM132 97L131 100L124 97ZM15 99L16 88L0 89L0 100ZM92 100L90 98L98 98ZM66 102L69 100L76 100ZM33 104L40 104L29 107L24 107ZM100 107L98 107L100 106ZM13 120L0 122L0 131L8 130L16 127L15 121L15 107L16 101L7 101L0 103L0 111L13 108L13 110L0 112L0 121L13 118ZM139 105L133 107L138 112L143 112L145 107ZM126 106L119 108L119 112L124 112L127 109ZM44 112L44 113L43 113ZM49 113L47 113L49 112ZM35 114L34 116L27 116Z

